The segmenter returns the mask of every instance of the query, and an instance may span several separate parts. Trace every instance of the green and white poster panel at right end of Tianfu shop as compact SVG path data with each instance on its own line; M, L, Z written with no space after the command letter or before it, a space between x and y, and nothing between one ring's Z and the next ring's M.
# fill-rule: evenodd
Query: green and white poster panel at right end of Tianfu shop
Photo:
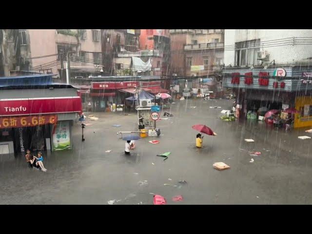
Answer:
M58 123L53 134L53 151L70 149L69 121Z

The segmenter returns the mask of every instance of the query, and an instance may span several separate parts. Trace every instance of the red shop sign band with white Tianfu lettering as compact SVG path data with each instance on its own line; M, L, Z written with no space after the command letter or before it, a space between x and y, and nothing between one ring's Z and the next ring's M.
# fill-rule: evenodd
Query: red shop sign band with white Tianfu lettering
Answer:
M0 116L70 113L80 111L80 97L0 99Z

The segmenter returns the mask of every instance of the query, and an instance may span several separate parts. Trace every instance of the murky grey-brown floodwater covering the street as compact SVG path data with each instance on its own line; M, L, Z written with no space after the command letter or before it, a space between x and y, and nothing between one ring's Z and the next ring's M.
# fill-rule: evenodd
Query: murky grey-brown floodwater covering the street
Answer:
M165 110L174 117L157 121L161 136L137 140L130 156L124 156L117 132L136 130L135 113L95 113L99 120L88 121L84 142L76 123L74 149L44 154L46 173L27 168L22 157L1 157L0 204L153 204L153 194L168 204L312 203L312 140L298 139L312 135L307 128L285 133L258 121L223 121L220 111L230 109L228 100L175 102ZM195 147L194 124L218 134L205 136L203 149ZM160 143L148 143L153 139ZM248 151L262 154L252 157ZM171 152L165 161L156 156L164 152ZM231 168L214 169L221 161ZM183 201L172 201L176 195Z

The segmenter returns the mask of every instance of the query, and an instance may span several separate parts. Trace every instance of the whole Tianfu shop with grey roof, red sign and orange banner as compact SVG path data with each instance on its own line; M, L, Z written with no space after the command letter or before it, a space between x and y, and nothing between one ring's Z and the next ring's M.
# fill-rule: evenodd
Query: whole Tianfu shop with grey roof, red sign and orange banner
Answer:
M65 84L0 87L0 154L72 148L81 112L77 89Z

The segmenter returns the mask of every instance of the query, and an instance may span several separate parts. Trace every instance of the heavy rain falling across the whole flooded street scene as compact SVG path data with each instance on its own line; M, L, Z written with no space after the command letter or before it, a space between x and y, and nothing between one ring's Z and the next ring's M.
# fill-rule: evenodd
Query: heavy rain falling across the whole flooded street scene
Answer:
M1 29L0 204L312 204L312 30Z

